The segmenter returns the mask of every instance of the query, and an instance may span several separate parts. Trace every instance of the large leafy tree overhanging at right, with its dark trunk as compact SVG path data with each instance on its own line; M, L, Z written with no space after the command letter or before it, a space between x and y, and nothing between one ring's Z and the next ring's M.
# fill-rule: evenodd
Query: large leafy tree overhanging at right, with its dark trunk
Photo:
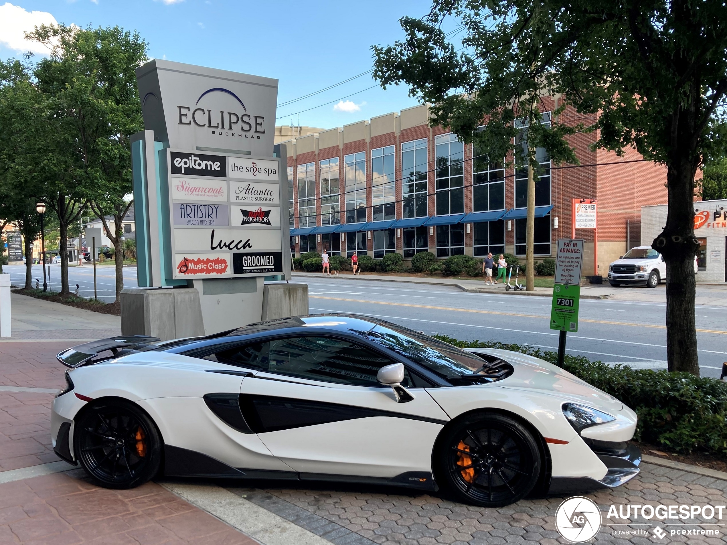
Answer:
M451 18L464 32L461 50L443 31ZM667 262L667 359L670 371L699 374L694 174L727 140L727 4L441 0L401 25L403 41L374 47L374 76L408 84L433 103L434 124L491 156L504 155L523 116L511 104L554 94L593 119L585 129L598 129L597 147L635 148L667 166L669 213L653 243ZM556 162L569 160L566 127L538 133Z

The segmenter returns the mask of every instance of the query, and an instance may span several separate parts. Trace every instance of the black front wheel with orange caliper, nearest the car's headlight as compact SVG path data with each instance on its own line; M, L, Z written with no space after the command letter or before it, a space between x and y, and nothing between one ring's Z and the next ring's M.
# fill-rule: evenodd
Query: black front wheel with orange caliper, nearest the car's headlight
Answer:
M515 503L536 485L542 467L531 432L500 413L474 413L438 443L437 481L459 501L485 507Z

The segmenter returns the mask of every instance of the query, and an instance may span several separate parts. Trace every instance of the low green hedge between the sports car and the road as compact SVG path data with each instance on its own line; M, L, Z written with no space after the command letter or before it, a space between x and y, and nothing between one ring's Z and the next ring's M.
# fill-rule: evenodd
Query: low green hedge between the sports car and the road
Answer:
M435 335L461 348L499 348L529 354L550 363L557 352L521 344L460 341ZM608 392L638 413L635 439L673 451L694 450L727 455L727 383L689 373L669 373L629 366L608 366L583 356L566 355L563 368Z

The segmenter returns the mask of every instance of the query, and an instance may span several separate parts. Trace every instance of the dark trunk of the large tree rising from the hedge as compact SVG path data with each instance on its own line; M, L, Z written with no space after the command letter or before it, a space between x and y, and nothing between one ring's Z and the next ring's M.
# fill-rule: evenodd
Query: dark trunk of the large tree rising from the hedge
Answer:
M667 262L667 360L669 371L699 375L694 317L694 167L686 154L667 166L667 225L651 247Z

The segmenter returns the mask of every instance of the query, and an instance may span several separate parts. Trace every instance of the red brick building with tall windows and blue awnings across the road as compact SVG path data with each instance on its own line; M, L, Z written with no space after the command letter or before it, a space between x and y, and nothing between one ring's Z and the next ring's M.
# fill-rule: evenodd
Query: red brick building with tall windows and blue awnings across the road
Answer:
M546 99L545 107L555 103ZM574 110L563 116L589 122ZM282 142L291 251L524 257L526 169L488 162L484 152L427 121L428 108L420 105ZM551 166L538 150L534 250L536 259L552 256L558 238L571 238L572 199L595 198L598 273L605 276L609 262L638 244L641 206L667 202L666 170L632 150L623 157L592 151L596 138L569 137L579 166ZM584 274L592 274L593 230L577 230L576 238L585 239Z

